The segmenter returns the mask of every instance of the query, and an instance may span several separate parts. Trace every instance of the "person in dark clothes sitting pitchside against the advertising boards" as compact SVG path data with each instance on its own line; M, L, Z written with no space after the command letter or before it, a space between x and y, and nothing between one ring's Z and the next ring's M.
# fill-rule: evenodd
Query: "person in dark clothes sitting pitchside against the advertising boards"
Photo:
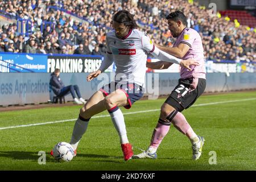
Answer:
M52 87L53 92L56 96L63 97L71 93L73 100L76 104L85 104L86 101L82 98L79 86L77 85L68 85L65 86L63 81L60 79L60 69L55 69L51 74L51 80L49 84ZM77 94L77 97L76 97Z

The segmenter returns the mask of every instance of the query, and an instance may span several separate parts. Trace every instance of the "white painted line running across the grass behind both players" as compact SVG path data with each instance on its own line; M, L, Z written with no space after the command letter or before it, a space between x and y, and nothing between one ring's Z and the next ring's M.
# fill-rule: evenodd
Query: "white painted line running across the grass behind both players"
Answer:
M226 103L232 103L232 102L242 102L242 101L252 101L252 100L256 100L256 98L246 98L246 99L241 99L241 100L222 101L222 102L209 102L209 103L205 103L205 104L195 104L195 105L192 105L191 107L216 105L216 104L226 104ZM131 113L123 113L123 115L138 114L138 113L149 113L149 112L159 111L159 110L160 109L142 110L142 111L135 111L135 112L131 112ZM98 115L98 116L94 116L92 118L104 118L104 117L110 117L110 115ZM18 126L0 127L0 130L14 129L14 128L17 128L17 127L28 127L28 126L48 125L48 124L53 124L53 123L63 123L63 122L75 121L76 119L67 119L67 120L61 120L61 121L51 121L51 122L44 122L44 123L35 123L35 124L30 124L30 125L18 125Z

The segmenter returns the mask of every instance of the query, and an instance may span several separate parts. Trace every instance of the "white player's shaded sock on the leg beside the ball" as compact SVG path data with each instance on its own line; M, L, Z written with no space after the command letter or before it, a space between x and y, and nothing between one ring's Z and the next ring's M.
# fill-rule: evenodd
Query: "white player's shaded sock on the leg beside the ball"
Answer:
M71 137L71 141L69 142L74 150L76 150L79 141L82 138L82 135L84 135L87 126L88 126L89 121L82 121L80 118L77 119L75 126L73 128L73 134Z

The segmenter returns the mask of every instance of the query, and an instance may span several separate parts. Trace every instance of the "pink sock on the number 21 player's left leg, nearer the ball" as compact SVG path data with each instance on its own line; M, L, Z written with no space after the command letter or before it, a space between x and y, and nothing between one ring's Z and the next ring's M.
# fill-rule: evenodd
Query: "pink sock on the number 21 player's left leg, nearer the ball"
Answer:
M159 144L162 142L163 138L166 136L170 129L170 124L165 121L164 123L160 123L163 121L162 119L159 119L158 125L156 125L155 130L152 134L150 147L152 148L158 148Z

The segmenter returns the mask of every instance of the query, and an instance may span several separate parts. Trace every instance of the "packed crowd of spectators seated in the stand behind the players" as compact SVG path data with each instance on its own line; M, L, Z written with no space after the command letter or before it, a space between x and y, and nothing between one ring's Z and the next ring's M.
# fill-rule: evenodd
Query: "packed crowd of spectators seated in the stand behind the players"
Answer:
M17 32L16 23L4 24L0 27L0 52L104 55L106 33L112 30L110 22L121 9L135 15L138 29L154 43L166 46L172 46L175 39L165 18L171 11L181 10L187 15L188 27L203 38L206 59L256 62L255 29L212 16L209 10L187 0L0 1L0 14L30 20L32 32L23 36Z

